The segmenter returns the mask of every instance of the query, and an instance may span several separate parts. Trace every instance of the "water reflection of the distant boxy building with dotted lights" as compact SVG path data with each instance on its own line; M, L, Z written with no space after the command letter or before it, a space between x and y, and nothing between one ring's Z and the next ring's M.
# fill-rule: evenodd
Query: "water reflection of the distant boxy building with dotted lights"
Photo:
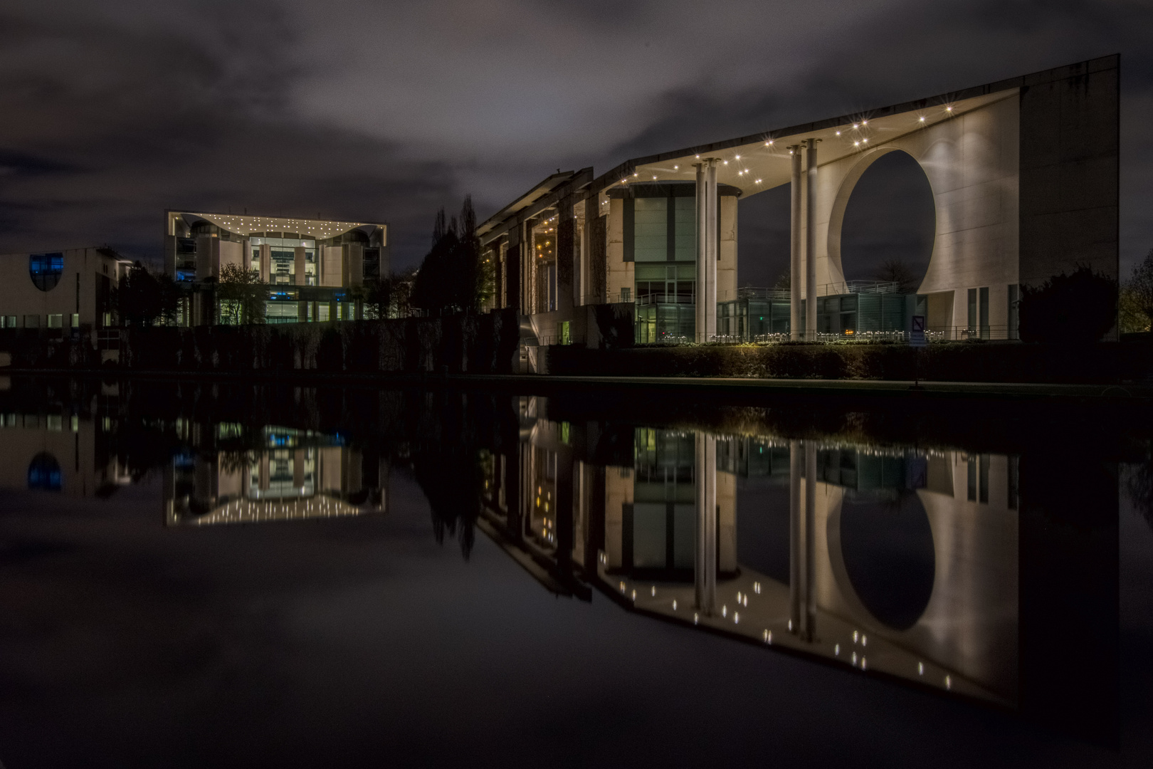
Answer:
M178 423L178 431L204 425ZM246 428L219 423L212 444L251 444ZM199 435L186 435L204 444ZM246 438L248 438L246 440ZM164 468L165 521L216 526L363 515L387 508L389 463L341 445L338 436L265 427L256 446L186 451Z

